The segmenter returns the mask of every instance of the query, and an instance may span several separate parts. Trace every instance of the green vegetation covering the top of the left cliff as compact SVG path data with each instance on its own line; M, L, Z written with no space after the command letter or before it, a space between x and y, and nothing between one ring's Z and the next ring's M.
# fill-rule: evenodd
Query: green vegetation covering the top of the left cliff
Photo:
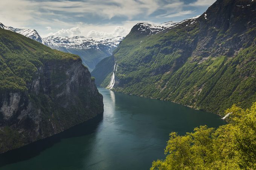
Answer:
M81 60L52 50L23 35L0 29L0 90L26 90L26 83L45 62Z

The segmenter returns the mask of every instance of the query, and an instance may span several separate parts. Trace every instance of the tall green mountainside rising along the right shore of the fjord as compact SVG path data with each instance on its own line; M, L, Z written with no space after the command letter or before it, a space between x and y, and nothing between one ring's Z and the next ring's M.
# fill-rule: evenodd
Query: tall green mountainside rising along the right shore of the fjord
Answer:
M256 100L255 9L252 0L217 0L200 17L155 35L136 25L114 51L111 69L101 67L105 79L98 66L92 75L107 87L116 63L117 92L218 114L238 102L249 107Z

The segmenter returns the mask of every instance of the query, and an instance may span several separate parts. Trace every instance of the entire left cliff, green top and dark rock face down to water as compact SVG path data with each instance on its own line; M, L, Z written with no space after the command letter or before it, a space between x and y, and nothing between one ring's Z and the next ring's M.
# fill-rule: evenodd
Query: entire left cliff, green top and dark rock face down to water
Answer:
M0 153L103 113L80 57L0 29Z

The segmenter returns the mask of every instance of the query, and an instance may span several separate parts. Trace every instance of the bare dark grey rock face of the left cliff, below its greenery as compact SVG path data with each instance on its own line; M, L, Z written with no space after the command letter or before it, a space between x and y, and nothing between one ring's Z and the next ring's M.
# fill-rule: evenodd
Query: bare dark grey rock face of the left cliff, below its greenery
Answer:
M1 59L8 67L5 54ZM26 90L17 89L15 85L8 89L1 87L0 153L52 136L103 113L102 95L78 56L67 60L55 57L40 60L35 72L27 73L32 78L26 81ZM15 69L10 66L9 70ZM2 72L6 70L1 68L0 74ZM6 82L0 81L1 85Z

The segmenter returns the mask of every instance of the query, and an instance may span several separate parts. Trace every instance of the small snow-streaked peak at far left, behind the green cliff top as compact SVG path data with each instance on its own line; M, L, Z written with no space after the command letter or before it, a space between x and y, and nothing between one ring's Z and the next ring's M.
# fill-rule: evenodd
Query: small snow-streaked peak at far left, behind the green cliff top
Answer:
M34 39L35 41L38 41L44 45L47 45L47 42L41 38L41 36L38 34L38 32L36 30L33 29L18 29L18 28L14 28L14 27L8 27L3 25L2 23L0 23L0 28L5 29L5 30L10 30L12 32L17 32L21 35L24 35L28 38Z

